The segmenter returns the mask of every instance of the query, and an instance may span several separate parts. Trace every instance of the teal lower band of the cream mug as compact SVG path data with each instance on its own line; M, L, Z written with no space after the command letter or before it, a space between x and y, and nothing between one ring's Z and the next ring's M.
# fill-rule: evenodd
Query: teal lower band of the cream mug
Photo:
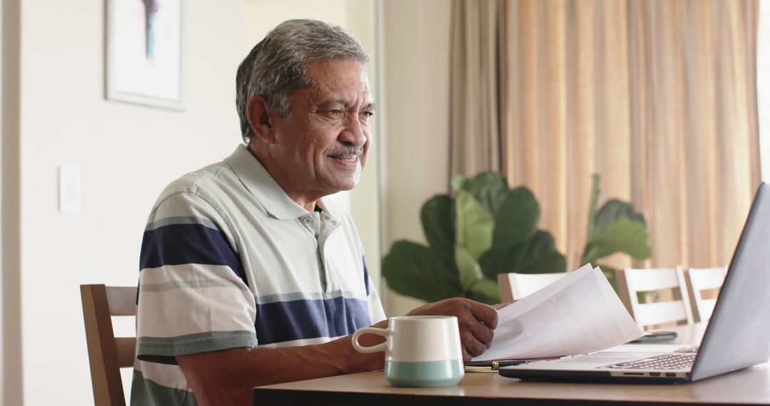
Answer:
M385 378L402 388L435 388L456 385L465 375L463 360L385 362Z

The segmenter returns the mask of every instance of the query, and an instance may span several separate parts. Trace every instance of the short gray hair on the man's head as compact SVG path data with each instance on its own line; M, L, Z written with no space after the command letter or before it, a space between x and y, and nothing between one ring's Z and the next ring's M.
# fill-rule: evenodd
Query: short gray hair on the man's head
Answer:
M297 89L313 86L307 65L313 61L354 58L367 65L369 55L343 28L316 20L282 22L254 45L236 74L236 107L243 141L253 136L246 105L261 95L280 117L286 117Z

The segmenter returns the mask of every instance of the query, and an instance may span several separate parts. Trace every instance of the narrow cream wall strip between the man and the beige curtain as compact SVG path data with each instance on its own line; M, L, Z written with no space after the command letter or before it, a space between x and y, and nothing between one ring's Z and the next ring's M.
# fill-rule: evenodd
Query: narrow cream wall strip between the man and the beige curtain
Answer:
M385 252L393 241L425 242L420 207L449 185L449 83L451 2L383 2L383 159ZM389 291L387 314L420 302Z

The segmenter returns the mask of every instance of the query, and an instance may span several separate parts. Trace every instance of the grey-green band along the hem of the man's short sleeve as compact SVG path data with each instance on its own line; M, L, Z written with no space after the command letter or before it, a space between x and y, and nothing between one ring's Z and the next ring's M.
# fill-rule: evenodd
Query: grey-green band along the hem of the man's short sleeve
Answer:
M254 331L207 331L176 337L136 338L136 355L142 361L144 361L144 355L173 357L175 355L199 354L244 347L256 347ZM173 363L176 364L176 362Z

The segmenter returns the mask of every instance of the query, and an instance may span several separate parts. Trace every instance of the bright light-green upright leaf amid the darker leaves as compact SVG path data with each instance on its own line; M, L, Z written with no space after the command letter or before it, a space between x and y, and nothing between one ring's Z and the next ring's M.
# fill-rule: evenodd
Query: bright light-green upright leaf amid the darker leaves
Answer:
M467 191L458 190L454 197L455 238L478 259L492 245L494 220Z

